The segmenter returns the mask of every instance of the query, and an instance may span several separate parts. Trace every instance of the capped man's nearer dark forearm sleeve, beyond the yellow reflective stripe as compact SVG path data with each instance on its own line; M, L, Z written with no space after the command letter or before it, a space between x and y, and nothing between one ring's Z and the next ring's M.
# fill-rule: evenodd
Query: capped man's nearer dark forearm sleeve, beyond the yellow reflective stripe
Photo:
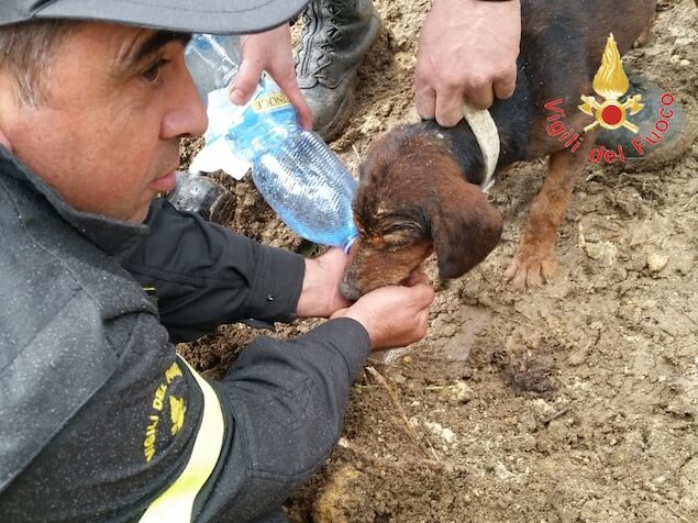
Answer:
M209 510L214 514L215 497L234 496L226 512L231 521L278 507L324 463L368 350L365 330L348 319L331 320L295 340L262 336L245 347L214 383L230 399L225 404L235 420L224 459L240 490L214 490L201 520L209 521Z

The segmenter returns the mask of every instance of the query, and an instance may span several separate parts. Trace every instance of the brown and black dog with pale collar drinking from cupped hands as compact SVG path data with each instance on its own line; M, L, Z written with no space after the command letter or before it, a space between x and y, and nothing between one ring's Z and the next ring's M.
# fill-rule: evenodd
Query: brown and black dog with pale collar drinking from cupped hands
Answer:
M578 105L583 94L591 93L609 34L621 54L628 52L649 31L656 1L521 3L517 89L510 99L497 101L490 113L500 137L498 169L550 156L545 182L507 270L509 280L525 287L543 282L554 271L556 231L596 138L596 130L575 145L551 137L550 109L564 111L567 129L589 124ZM485 259L499 242L502 225L479 188L483 170L483 153L465 121L452 129L433 121L402 125L372 144L359 167L354 198L359 236L342 293L356 299L399 283L432 251L442 279L462 276Z

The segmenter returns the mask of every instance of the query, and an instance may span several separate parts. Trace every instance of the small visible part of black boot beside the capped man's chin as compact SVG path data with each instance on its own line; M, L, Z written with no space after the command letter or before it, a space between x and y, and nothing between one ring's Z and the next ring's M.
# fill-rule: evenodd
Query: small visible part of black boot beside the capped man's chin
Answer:
M219 225L226 225L235 211L233 194L201 175L177 173L177 185L167 200L179 211L193 212Z

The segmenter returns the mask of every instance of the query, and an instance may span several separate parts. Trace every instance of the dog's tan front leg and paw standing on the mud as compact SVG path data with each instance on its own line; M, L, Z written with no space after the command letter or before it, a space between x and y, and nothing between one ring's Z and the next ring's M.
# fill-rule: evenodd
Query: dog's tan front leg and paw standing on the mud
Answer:
M506 276L517 288L540 286L555 272L555 236L569 198L595 142L589 133L581 147L551 155L543 188L535 197L523 237Z

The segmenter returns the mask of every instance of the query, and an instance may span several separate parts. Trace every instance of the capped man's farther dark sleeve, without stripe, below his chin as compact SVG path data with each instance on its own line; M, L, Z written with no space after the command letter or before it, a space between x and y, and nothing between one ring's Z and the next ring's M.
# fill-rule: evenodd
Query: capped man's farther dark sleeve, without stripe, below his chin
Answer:
M261 245L160 199L146 225L148 234L119 262L152 289L173 342L196 340L222 323L296 318L301 255Z

